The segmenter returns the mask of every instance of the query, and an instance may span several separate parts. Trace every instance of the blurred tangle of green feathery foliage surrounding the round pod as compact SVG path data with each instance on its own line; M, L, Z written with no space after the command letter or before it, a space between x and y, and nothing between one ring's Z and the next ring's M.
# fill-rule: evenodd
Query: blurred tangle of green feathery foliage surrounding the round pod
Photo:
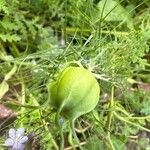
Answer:
M76 122L83 149L150 149L149 44L149 0L1 0L0 102L18 114L1 121L1 145L7 129L22 126L33 145L58 148L53 111L36 107L48 82L76 61L101 86L96 109Z

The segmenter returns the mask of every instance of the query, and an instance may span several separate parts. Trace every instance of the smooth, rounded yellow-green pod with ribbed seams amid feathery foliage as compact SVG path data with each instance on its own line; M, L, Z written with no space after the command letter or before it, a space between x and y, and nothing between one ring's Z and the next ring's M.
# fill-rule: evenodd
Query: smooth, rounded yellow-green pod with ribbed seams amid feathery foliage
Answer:
M67 119L76 119L95 108L100 87L91 72L68 67L49 85L50 104Z

